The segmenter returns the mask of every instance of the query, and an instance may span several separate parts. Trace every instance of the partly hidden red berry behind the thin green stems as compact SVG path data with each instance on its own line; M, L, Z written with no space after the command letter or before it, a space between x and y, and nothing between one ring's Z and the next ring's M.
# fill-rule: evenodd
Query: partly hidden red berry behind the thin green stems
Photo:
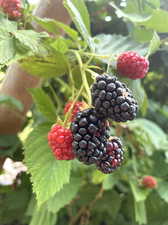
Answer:
M71 106L72 106L73 102L72 101L69 101L65 107L64 107L64 114L68 113ZM75 102L73 108L72 108L72 111L71 111L71 118L70 118L70 121L73 121L76 117L76 114L79 112L79 111L82 111L83 109L85 109L85 105L86 103L84 102Z

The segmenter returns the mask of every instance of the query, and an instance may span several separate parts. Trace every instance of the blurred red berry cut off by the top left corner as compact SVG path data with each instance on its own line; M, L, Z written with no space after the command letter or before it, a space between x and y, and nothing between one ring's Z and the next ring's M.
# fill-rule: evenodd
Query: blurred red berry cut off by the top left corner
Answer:
M11 18L18 18L21 14L21 0L0 0L0 8Z

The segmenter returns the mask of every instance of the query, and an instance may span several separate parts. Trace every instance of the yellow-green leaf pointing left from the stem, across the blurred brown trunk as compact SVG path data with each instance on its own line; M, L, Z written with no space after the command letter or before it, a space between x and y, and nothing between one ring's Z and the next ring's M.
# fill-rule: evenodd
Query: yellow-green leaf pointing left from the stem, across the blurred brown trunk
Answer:
M60 52L44 58L29 57L22 60L21 65L29 74L43 78L60 76L68 71L67 58Z

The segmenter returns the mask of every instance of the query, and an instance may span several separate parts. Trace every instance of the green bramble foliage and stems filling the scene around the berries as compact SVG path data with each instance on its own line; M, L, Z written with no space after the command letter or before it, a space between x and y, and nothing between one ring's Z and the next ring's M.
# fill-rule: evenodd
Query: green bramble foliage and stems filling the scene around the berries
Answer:
M72 18L71 27L34 16L34 7L26 0L19 17L11 18L1 7L2 73L17 61L43 82L29 90L34 105L22 131L0 137L2 174L7 157L22 161L28 169L13 184L0 186L0 224L167 225L167 2L64 0L64 6ZM34 31L32 22L44 32ZM128 51L149 60L144 79L117 71L118 57ZM139 106L132 121L109 120L110 136L120 137L125 152L123 165L111 174L77 159L56 159L58 154L54 156L47 140L54 124L70 132L76 112L92 107L90 88L103 73L124 82ZM76 102L83 103L73 111ZM23 110L9 96L0 95L0 104ZM59 138L60 146L65 138Z

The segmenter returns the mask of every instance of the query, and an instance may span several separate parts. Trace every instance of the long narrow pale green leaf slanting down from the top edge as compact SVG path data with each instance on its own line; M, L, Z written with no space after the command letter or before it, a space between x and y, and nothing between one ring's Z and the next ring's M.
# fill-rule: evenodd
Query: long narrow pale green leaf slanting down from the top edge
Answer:
M83 0L79 0L78 4L77 1L74 0L64 0L64 6L68 10L72 18L72 21L74 22L75 26L81 33L84 40L86 41L90 49L94 51L95 46L87 27L88 22L85 24L85 22L88 21L88 19L85 19L86 17L83 17L83 15L86 15L86 8L83 8L84 7ZM84 13L81 12L82 10L84 10Z

